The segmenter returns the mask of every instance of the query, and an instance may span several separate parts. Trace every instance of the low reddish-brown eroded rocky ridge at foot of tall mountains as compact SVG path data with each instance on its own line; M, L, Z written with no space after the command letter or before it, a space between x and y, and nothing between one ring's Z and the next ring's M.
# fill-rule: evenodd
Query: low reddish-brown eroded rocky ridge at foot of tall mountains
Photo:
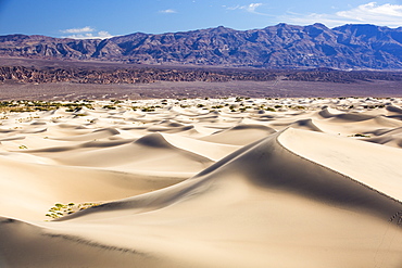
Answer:
M0 66L0 85L7 84L149 84L155 81L402 81L401 72L314 69L240 69L240 68L90 68Z

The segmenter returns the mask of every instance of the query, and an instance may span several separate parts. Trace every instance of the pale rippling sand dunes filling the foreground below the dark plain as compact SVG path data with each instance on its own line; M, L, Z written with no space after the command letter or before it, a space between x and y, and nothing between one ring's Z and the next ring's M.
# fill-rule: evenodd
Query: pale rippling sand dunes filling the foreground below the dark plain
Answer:
M0 267L402 267L402 99L91 105L1 114Z

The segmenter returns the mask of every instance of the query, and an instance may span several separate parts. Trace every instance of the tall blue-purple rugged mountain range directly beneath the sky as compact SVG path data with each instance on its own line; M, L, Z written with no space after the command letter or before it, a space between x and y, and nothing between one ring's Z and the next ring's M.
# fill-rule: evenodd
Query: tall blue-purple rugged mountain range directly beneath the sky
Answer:
M0 37L0 56L100 60L141 64L228 67L401 69L402 27L278 24L263 29L226 27L110 39Z

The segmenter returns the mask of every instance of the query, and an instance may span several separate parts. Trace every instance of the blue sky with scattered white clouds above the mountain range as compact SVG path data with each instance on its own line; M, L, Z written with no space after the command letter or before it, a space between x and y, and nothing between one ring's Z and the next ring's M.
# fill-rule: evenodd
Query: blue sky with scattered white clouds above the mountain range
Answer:
M0 35L110 38L278 23L402 26L402 0L0 0Z

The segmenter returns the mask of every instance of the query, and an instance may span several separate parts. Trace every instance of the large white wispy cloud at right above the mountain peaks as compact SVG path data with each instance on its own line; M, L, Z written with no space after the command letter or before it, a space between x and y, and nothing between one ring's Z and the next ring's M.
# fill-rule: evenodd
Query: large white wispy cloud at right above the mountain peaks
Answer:
M378 5L376 2L361 4L350 10L338 11L334 14L297 14L289 13L279 17L281 21L294 24L323 23L329 27L343 24L375 24L389 27L402 26L402 4L385 3Z

